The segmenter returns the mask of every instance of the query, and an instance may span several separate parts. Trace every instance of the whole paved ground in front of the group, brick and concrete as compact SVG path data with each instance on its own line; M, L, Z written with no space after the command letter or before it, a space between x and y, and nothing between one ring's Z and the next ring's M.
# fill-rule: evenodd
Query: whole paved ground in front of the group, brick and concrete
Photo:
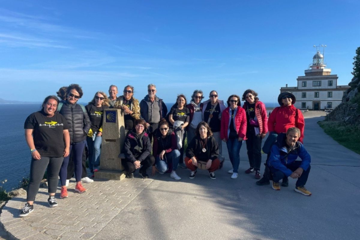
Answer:
M169 175L96 179L84 184L89 190L83 194L75 193L71 182L69 198L58 199L56 208L47 206L47 189L40 189L34 212L23 218L18 214L25 196L13 198L0 216L8 232L3 238L357 240L360 155L327 136L316 124L321 119L306 119L304 144L312 157L306 185L310 197L293 190L293 179L281 191L257 186L253 174L244 173L248 168L244 143L236 180L230 179L231 164L226 161L216 171L216 180L206 171L189 179L188 170L178 169L181 181Z

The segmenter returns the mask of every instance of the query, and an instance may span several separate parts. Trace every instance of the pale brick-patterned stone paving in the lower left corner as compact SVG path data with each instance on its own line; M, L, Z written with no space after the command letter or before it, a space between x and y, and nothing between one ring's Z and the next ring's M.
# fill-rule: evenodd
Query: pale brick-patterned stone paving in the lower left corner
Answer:
M98 180L84 184L88 191L82 194L76 193L72 189L75 184L71 183L68 198L59 199L59 191L55 195L59 206L54 208L48 207L47 189L40 189L34 212L19 218L26 196L16 197L3 208L0 222L11 239L91 239L152 181L142 178L124 182Z

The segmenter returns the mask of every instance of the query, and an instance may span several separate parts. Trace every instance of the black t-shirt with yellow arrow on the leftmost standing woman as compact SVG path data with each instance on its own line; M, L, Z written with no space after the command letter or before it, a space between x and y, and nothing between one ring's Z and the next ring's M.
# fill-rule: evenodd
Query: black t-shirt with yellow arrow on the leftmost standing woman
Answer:
M43 111L30 114L24 129L33 129L35 148L41 157L62 157L65 149L63 130L69 129L66 119L60 113L48 117Z

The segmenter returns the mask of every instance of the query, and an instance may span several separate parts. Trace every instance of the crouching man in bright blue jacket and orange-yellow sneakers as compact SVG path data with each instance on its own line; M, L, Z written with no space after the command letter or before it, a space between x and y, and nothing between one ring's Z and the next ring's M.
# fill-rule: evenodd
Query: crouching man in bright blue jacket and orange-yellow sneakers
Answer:
M271 148L269 167L273 175L273 189L280 190L279 181L286 177L297 178L295 191L306 196L311 196L305 188L310 172L311 157L301 142L300 129L291 127L285 133L280 133L276 143ZM297 157L301 161L296 161Z

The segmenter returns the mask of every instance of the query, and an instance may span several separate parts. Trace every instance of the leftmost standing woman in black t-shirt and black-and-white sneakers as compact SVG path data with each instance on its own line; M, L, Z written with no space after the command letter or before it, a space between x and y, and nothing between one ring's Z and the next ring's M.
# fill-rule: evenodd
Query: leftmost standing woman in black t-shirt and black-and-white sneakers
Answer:
M27 203L19 217L25 217L33 211L33 202L46 168L49 185L48 203L50 207L58 205L55 193L59 171L64 157L67 157L70 151L68 124L66 119L56 112L58 103L56 96L46 97L41 111L30 114L24 123L25 139L32 158Z

